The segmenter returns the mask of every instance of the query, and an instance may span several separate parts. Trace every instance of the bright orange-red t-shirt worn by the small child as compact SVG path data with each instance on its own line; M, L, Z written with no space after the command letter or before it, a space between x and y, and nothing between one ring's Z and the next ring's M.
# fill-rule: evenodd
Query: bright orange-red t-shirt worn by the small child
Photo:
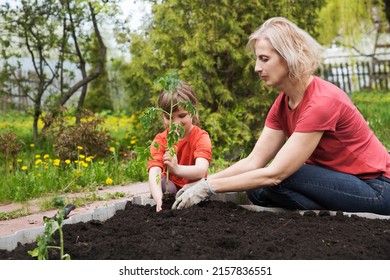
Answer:
M167 135L168 129L157 134L154 138L150 148L152 159L148 162L148 171L150 168L158 166L162 169L163 173L166 172L163 155L165 153L165 148L167 147ZM155 147L155 143L158 143L158 148ZM195 165L195 160L197 158L204 158L210 162L212 158L212 149L209 134L205 130L194 125L190 134L187 137L180 139L177 143L176 155L178 164L180 165ZM192 182L173 174L169 175L169 180L179 187L183 187L185 184Z

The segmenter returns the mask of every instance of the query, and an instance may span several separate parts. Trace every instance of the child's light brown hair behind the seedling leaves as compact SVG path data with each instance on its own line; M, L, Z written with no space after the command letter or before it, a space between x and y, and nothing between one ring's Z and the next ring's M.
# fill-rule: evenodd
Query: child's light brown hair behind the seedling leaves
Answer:
M196 109L196 112L194 115L192 115L192 124L199 125L199 117L198 117L198 99L196 96L195 91L192 90L192 88L184 81L179 81L178 86L173 91L173 104L177 104L180 101L190 101L192 103L192 106ZM157 106L161 109L163 109L165 112L170 112L171 110L171 95L169 92L165 90L161 90L160 96L157 101ZM173 107L173 112L176 112L179 110L179 106L175 105Z

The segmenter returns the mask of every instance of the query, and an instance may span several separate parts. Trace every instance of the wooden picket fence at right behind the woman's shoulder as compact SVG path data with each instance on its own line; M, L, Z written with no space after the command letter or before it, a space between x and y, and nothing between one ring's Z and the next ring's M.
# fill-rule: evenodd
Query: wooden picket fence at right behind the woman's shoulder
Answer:
M390 61L326 64L322 76L347 93L371 90L389 90Z

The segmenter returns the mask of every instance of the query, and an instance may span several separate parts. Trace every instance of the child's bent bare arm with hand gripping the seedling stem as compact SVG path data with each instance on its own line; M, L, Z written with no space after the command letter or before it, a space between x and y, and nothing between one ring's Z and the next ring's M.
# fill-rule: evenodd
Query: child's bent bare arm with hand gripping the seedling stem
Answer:
M209 161L207 159L197 158L195 165L180 165L177 163L176 155L171 158L169 152L164 154L164 164L172 174L189 180L205 178L209 169Z

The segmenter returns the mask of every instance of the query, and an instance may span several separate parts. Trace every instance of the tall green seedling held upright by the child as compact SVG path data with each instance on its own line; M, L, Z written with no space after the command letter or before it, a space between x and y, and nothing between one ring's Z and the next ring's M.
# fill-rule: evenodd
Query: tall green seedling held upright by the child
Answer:
M167 119L169 119L169 127L168 127L168 135L167 135L167 147L165 148L166 151L168 151L173 157L176 153L176 145L179 142L180 138L184 135L184 128L182 125L173 123L172 122L172 115L174 112L175 107L183 108L184 110L188 111L191 116L195 115L196 108L193 106L191 101L187 100L181 100L175 103L174 101L174 93L180 86L180 80L179 75L176 71L172 71L168 75L164 77L160 77L156 80L156 83L162 87L162 89L169 93L170 95L170 110L169 112L161 109L161 108L155 108L151 107L141 116L141 124L145 129L149 129L151 126L151 123L157 119L157 117L161 116L161 114L164 114L167 116ZM156 148L159 148L159 145L157 143L154 144ZM150 157L150 153L148 154ZM169 170L166 171L166 181L165 181L165 192L168 191L168 183L169 183ZM161 180L161 178L157 178L157 180Z

